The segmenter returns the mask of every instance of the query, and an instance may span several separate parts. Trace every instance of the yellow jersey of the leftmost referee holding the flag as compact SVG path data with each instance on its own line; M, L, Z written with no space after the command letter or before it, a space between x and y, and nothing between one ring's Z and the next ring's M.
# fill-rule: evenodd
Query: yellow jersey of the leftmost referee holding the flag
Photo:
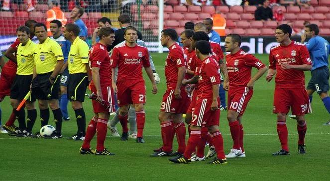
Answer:
M19 44L16 57L17 57L17 75L31 75L34 68L34 52L37 48L37 44L32 40L22 45Z

